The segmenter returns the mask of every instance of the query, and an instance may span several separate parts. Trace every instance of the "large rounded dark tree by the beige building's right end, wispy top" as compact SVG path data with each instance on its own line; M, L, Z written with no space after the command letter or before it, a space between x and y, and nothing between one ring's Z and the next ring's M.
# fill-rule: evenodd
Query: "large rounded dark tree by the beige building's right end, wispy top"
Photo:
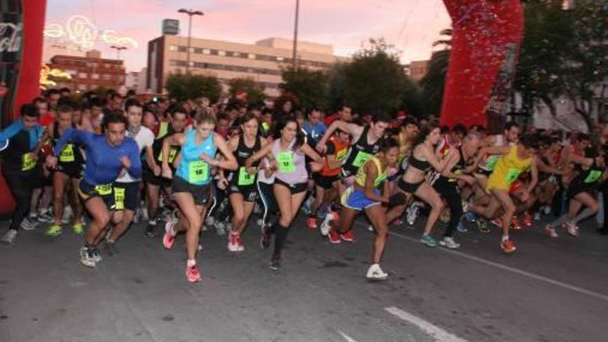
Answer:
M393 112L403 101L406 75L394 46L370 39L370 47L353 56L344 72L344 100L358 113Z

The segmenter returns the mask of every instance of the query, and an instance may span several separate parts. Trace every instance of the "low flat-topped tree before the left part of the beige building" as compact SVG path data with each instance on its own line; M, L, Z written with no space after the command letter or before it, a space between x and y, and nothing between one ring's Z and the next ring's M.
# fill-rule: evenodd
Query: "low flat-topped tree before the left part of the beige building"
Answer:
M217 77L207 75L171 74L167 77L165 88L169 91L169 97L178 101L205 96L213 103L218 101L222 93L222 85Z

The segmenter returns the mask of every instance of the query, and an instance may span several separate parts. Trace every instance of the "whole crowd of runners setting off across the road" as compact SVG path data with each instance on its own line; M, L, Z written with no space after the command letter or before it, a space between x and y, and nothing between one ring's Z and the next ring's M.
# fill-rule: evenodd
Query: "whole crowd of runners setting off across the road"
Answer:
M200 281L200 231L215 229L229 251L242 253L254 216L260 233L247 234L259 234L263 249L274 240L276 270L298 212L337 244L354 241L363 211L375 233L366 276L384 280L391 224L424 217L420 242L450 249L471 227L464 221L484 234L495 226L500 248L513 253L512 230L552 214L542 227L549 238L576 237L579 222L598 211L598 191L608 196L603 132L522 133L508 122L488 135L482 126L448 128L409 115L354 115L347 105L332 115L294 111L289 101L142 104L115 91L74 98L48 91L0 132L2 173L16 202L1 240L14 243L19 229L39 226L56 238L71 227L84 235L86 267L117 253L133 222L145 222L144 236L162 234L165 249L184 236L187 280ZM437 220L446 223L442 234ZM604 222L598 232L606 235Z

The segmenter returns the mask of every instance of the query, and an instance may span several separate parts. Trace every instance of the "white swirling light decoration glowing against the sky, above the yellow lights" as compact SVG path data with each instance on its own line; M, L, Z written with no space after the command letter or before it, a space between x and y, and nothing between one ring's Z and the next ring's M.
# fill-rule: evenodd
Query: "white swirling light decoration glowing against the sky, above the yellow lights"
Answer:
M87 17L82 15L70 17L66 26L61 26L58 23L48 24L44 28L44 37L67 38L86 50L92 49L98 41L106 44L132 46L133 48L139 46L135 39L117 35L115 30L98 30Z

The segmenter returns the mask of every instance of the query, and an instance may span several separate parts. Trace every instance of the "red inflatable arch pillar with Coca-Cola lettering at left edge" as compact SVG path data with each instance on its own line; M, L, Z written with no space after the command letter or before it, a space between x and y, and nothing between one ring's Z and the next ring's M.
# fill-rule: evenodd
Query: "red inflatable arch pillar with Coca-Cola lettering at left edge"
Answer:
M40 93L46 0L0 1L0 129L19 117L21 104ZM14 206L0 177L0 214Z

